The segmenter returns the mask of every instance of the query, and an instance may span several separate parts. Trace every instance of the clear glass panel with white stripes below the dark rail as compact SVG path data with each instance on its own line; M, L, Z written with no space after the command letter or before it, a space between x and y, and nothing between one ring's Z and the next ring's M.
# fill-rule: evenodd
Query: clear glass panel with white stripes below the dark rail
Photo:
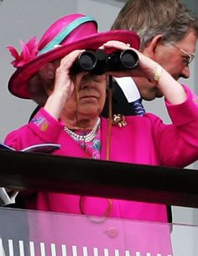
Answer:
M0 256L194 256L198 227L0 208Z

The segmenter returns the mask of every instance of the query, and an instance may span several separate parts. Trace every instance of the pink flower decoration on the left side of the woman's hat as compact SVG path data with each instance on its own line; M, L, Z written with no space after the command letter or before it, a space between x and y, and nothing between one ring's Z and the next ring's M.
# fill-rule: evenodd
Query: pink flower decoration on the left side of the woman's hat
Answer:
M25 65L30 60L34 60L35 56L38 54L38 42L35 36L29 39L28 43L24 43L21 40L20 44L22 49L20 54L18 54L18 50L13 46L7 47L11 55L15 58L15 60L11 62L14 67Z

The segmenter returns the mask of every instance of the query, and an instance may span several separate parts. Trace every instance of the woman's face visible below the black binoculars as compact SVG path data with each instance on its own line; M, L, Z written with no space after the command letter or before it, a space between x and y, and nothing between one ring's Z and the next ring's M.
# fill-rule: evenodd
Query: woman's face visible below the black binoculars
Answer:
M65 103L67 118L96 118L102 112L106 99L107 75L80 73L74 81L76 89Z

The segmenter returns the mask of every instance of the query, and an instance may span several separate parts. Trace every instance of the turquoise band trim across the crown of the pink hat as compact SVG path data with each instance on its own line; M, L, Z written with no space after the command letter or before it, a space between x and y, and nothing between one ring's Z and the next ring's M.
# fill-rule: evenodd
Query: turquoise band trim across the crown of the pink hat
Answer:
M53 50L55 45L59 45L74 29L79 27L81 24L85 24L86 22L93 21L96 23L96 20L91 16L77 18L73 22L71 22L65 29L60 31L59 34L55 36L55 38L50 41L47 45L44 46L44 49L39 51L39 55L42 55L49 50Z

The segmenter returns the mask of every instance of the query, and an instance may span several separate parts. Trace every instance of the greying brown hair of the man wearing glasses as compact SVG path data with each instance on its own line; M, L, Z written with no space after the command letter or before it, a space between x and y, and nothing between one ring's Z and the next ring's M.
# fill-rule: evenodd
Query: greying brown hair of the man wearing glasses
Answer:
M115 29L135 31L143 49L158 34L164 43L176 43L190 30L198 37L198 20L179 0L129 0L112 24Z

